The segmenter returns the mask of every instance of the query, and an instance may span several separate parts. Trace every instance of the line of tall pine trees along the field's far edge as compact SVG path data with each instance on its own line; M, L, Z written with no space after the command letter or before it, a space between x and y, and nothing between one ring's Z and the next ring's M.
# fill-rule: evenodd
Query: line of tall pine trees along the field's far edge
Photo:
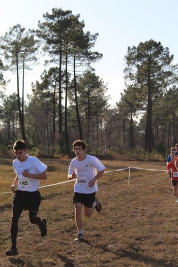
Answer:
M85 32L80 15L70 10L55 8L43 18L37 29L17 24L0 39L1 147L24 139L45 156L70 155L73 141L83 139L93 153L141 148L163 154L178 142L178 65L167 47L154 40L128 47L125 88L111 108L107 84L92 68L103 57L94 50L98 33ZM46 69L25 101L26 72L39 57ZM17 92L9 96L6 71L17 81Z

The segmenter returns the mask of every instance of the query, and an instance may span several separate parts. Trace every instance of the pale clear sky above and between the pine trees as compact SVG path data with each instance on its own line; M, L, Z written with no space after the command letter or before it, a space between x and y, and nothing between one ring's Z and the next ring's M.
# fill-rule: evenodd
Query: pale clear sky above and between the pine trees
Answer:
M178 62L177 49L177 0L0 0L0 36L10 27L20 23L22 27L37 28L43 14L52 8L72 10L84 20L85 31L99 33L95 51L103 58L93 66L96 74L108 85L109 103L115 105L123 92L124 56L128 46L137 46L150 39L161 42ZM38 66L26 74L25 90L29 93L31 82L40 80L45 67ZM16 92L16 78L11 78L7 93Z

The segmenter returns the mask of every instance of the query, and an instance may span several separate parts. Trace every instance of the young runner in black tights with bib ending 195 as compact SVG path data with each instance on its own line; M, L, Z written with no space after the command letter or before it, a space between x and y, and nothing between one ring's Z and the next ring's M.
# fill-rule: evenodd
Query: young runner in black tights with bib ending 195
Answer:
M10 250L6 251L7 256L18 255L16 247L18 220L23 210L28 210L31 223L39 226L41 237L45 237L47 233L46 220L41 220L40 217L37 217L41 202L41 195L38 188L40 186L40 180L47 179L45 173L47 165L37 157L31 157L26 154L26 143L23 140L16 141L13 150L17 157L12 163L16 178L11 186L11 190L15 192L15 195L12 205L10 228L12 246ZM16 186L17 191L15 191Z

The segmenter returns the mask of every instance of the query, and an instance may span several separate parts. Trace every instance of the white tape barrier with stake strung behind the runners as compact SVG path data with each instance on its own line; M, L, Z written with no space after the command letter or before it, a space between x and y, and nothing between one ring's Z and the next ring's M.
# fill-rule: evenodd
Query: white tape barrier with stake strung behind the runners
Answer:
M104 174L106 174L106 173L120 172L120 171L124 171L124 170L129 169L128 185L130 185L130 169L131 169L131 168L132 168L132 169L138 169L138 170L146 170L146 171L166 172L166 170L144 169L144 168L139 168L139 167L132 167L132 166L129 166L129 167L124 168L124 169L118 169L118 170L114 170L114 171L107 171L107 172L104 172ZM72 179L72 180L68 180L68 181L64 181L64 182L60 182L60 183L56 183L56 184L44 185L44 186L40 186L39 188L45 188L45 187L50 187L50 186L60 185L60 184L66 184L66 183L69 183L69 182L73 182L73 181L75 181L75 180L76 180L76 179ZM10 191L10 192L3 192L3 193L0 193L0 195L1 195L1 194L9 194L9 193L12 193L12 191Z

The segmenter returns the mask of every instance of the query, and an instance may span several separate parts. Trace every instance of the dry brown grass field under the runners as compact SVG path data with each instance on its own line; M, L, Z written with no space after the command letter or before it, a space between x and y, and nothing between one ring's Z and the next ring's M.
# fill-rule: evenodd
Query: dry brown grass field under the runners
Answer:
M48 179L41 186L67 180L70 160L42 160ZM102 160L106 171L128 166L165 170L166 162ZM72 205L74 182L41 188L39 216L47 219L47 236L23 211L19 220L18 256L5 256L10 248L10 220L15 178L12 160L0 162L0 266L1 267L106 267L178 266L178 204L166 172L132 169L105 173L98 180L97 196L103 205L90 218L83 217L84 241L77 235Z

